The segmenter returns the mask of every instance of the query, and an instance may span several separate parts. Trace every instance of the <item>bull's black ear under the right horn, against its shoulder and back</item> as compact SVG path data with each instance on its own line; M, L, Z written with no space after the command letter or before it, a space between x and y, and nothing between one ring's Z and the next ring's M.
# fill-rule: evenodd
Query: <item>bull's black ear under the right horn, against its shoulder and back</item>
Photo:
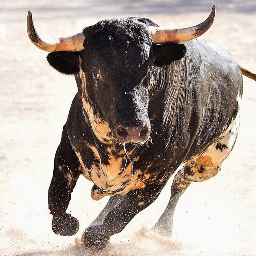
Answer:
M183 58L187 52L184 44L167 43L153 45L154 64L157 66L170 65L175 60Z

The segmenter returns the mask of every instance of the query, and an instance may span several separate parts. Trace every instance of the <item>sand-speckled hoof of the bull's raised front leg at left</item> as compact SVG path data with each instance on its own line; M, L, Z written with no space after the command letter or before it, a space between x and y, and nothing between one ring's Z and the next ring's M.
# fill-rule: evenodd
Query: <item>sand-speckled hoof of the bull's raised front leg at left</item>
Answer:
M79 222L70 214L66 214L61 218L53 217L52 231L57 235L74 235L79 229Z

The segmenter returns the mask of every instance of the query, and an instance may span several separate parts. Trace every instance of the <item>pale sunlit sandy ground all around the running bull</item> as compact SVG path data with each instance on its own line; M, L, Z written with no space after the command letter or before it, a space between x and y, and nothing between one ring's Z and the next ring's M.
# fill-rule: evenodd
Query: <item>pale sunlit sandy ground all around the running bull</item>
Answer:
M105 18L143 16L159 25L203 21L212 4L214 25L202 38L218 43L256 72L256 3L245 1L0 0L0 255L93 255L75 245L107 198L93 201L82 177L68 212L78 234L51 231L47 205L55 150L76 93L73 77L49 67L46 52L27 37L27 11L49 37L70 35ZM175 212L173 237L150 232L170 196L170 182L98 255L256 255L256 83L244 78L241 126L233 152L211 180L193 183Z

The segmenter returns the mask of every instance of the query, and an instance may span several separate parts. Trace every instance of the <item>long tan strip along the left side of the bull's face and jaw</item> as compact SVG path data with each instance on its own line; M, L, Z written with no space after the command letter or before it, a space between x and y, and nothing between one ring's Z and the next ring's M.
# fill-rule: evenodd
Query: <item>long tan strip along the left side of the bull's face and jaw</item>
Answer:
M112 140L113 137L109 127L108 122L102 120L98 115L94 114L93 107L91 106L88 96L87 96L87 88L86 88L86 76L81 68L81 59L80 59L80 78L82 81L82 102L84 111L87 113L89 117L89 122L91 124L91 128L93 129L96 137L104 143L108 143L109 140Z

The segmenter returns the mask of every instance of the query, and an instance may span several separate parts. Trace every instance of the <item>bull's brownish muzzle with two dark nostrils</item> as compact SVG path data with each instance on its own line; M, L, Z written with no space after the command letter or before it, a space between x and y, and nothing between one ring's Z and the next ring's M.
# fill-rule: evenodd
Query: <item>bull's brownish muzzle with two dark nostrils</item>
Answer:
M150 127L147 124L137 124L132 126L125 126L119 124L114 129L114 137L120 143L129 142L146 142L149 139Z

